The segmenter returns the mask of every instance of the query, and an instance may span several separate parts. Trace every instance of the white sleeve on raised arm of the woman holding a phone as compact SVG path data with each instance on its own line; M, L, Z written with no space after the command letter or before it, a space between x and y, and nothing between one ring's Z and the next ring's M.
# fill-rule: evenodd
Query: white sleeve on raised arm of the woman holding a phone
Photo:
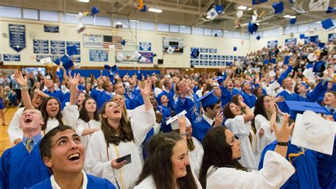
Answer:
M140 147L147 132L155 125L155 113L153 109L145 110L145 105L140 105L133 110L130 125L133 130L134 142Z

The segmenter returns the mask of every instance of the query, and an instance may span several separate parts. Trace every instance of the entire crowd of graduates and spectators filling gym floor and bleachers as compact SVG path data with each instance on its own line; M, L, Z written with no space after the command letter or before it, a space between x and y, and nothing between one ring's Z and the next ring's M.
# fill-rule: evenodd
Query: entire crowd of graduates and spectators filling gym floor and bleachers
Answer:
M0 188L335 188L336 144L329 156L290 141L293 101L336 120L335 44L263 48L215 72L16 72L22 107ZM77 176L82 185L69 181Z

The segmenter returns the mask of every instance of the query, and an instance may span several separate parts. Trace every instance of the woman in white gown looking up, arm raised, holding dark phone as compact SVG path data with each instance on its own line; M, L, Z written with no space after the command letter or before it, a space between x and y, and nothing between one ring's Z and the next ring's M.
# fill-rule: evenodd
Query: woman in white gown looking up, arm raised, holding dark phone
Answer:
M88 173L106 178L120 188L132 188L141 172L140 147L153 127L155 113L150 102L152 82L140 88L144 105L138 106L128 119L115 102L101 109L101 130L91 135L86 150L85 169ZM130 154L131 163L116 159Z

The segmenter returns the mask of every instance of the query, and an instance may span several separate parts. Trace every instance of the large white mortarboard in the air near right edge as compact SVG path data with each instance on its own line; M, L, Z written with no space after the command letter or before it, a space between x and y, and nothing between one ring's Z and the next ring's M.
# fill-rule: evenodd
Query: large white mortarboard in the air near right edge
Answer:
M297 114L295 123L292 144L332 155L335 124L330 124L330 122L311 110L306 110L303 115Z

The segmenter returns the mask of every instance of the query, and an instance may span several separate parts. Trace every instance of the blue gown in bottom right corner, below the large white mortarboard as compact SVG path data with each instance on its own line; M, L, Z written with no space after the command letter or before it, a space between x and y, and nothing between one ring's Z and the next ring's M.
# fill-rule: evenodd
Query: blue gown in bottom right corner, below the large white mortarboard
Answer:
M336 188L336 137L332 156L318 153L318 182L321 188Z

